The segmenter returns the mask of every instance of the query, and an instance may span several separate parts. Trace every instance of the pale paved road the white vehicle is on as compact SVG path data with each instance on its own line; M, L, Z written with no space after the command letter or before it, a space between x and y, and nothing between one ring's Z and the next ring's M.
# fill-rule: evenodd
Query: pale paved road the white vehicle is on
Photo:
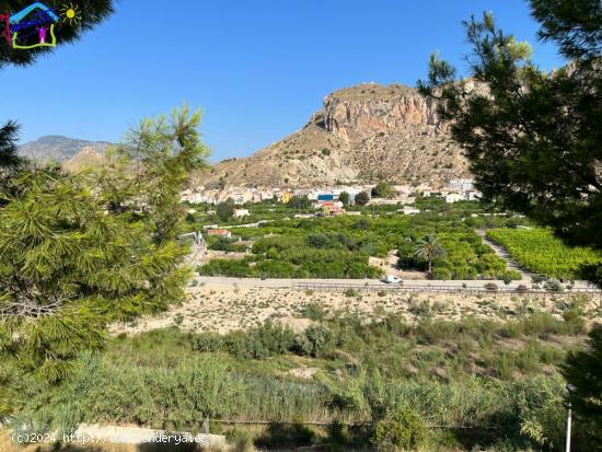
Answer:
M196 278L204 287L209 288L271 288L271 289L291 289L294 282L309 282L309 283L336 283L336 285L382 285L383 287L390 287L389 285L378 279L258 279L258 278L224 278L224 277L208 277L201 276ZM498 287L503 288L506 285L503 281L497 280L405 280L405 287L424 287L424 286L447 286L461 288L466 285L466 288L484 288L486 283L495 282ZM517 288L519 285L531 287L530 280L512 281L510 288ZM587 281L576 281L575 285L578 289L589 289L590 286Z

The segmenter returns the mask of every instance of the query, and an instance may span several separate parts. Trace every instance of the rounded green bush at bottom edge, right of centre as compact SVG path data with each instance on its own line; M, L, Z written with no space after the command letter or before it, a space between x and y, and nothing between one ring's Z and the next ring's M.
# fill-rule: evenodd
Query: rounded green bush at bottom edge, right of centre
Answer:
M383 451L414 450L425 440L426 431L420 416L404 407L377 422L372 443Z

